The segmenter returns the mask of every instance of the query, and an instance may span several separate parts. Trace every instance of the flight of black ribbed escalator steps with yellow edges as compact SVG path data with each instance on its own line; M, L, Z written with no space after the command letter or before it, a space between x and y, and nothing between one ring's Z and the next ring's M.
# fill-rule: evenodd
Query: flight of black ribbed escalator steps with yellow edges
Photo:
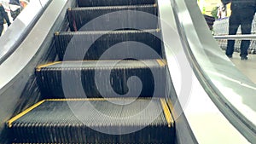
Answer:
M11 142L174 143L160 21L142 17L158 17L157 2L77 6L67 9L69 31L54 33L59 59L35 68L44 100L7 123Z

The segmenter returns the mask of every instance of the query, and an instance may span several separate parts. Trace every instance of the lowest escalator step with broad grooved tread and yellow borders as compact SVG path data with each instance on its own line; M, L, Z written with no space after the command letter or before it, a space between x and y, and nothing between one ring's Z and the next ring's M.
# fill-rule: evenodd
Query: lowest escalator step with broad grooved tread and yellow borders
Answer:
M125 104L129 101L129 104ZM123 105L120 105L123 104ZM13 143L172 144L165 99L44 100L8 122Z

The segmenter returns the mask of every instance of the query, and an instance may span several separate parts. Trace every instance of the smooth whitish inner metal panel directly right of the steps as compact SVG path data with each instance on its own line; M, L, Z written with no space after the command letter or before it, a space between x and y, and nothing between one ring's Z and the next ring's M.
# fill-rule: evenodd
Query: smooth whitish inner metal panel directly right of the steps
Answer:
M186 37L180 32L178 21L178 16L183 16L183 22L192 25L188 9L177 12L174 0L161 0L158 5L168 72L172 78L168 83L172 101L168 105L172 107L177 143L249 143L219 111L195 76L195 67L190 65L186 52L189 45L184 41ZM203 28L207 31L207 25Z

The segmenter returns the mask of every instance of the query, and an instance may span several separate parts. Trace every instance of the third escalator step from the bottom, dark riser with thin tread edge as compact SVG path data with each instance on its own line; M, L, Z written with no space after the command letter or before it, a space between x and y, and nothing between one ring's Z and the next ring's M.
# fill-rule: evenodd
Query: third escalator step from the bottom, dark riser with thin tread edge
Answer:
M55 32L60 60L137 60L162 58L160 30ZM104 55L103 55L104 54Z

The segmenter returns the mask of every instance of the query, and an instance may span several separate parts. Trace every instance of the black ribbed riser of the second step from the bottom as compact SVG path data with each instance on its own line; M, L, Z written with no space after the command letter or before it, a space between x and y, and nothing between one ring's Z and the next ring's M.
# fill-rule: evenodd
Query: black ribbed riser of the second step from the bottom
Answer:
M110 72L111 74L109 76ZM155 76L153 76L153 73ZM89 98L165 97L167 93L165 87L166 67L113 70L109 68L105 70L101 70L101 68L96 70L83 70L78 68L77 70L62 71L48 71L42 69L36 74L41 89L47 92L44 95L54 95L55 98L84 98L85 95ZM138 82L136 78L131 78L130 84L131 89L137 90L132 91L127 87L126 81L131 76L137 76L142 81L143 88L141 92L137 89L140 88L141 83ZM65 79L61 80L61 77ZM110 89L113 89L113 91Z

